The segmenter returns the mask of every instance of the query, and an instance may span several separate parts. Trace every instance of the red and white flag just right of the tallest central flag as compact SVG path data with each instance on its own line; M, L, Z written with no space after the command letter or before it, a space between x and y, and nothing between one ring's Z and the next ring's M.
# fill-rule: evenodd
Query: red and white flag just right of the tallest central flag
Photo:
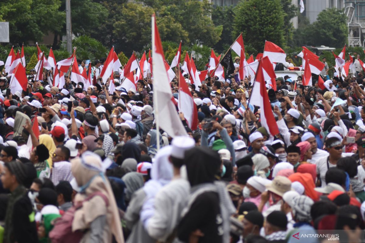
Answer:
M196 130L198 125L198 111L196 110L194 99L181 72L178 107L179 110L184 113L184 117L189 128L193 131Z

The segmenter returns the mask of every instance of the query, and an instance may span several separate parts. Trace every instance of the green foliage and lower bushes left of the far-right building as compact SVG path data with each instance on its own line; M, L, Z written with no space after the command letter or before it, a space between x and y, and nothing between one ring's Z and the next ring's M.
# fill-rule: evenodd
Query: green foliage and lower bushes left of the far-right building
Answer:
M300 15L299 15L300 16ZM311 45L340 48L347 43L346 15L339 9L324 9L313 24L303 17L291 46Z

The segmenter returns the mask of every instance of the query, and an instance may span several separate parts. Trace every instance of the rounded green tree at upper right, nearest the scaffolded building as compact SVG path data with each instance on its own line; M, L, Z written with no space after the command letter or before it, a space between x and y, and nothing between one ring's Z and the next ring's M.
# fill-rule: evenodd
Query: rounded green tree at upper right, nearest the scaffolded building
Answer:
M346 15L336 8L324 9L310 28L310 40L313 45L343 47L347 42Z

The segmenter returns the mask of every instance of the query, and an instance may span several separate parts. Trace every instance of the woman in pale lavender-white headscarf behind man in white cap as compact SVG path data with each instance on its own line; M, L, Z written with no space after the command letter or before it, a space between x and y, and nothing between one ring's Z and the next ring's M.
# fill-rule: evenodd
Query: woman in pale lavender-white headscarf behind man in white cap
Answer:
M147 224L154 215L154 198L162 187L168 184L173 177L172 164L169 161L172 146L167 146L158 151L151 168L151 180L132 196L124 219L131 234L127 242L154 243L147 231Z

